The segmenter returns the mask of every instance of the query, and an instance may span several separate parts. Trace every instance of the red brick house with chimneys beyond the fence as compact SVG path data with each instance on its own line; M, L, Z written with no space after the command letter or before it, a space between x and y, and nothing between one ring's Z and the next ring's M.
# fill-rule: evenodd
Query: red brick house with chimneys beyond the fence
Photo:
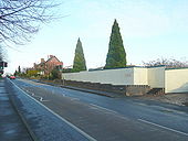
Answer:
M34 63L33 66L33 69L39 70L41 75L50 75L54 68L60 70L63 68L63 62L60 62L54 55L50 55L48 61L41 58L41 63Z

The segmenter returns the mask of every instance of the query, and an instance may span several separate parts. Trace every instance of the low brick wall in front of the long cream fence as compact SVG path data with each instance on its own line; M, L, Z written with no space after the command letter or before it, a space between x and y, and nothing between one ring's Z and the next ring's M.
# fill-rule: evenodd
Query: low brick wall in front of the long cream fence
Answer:
M111 85L75 80L64 80L64 85L107 93L115 93L124 96L140 96L147 94L150 90L150 87L148 85Z

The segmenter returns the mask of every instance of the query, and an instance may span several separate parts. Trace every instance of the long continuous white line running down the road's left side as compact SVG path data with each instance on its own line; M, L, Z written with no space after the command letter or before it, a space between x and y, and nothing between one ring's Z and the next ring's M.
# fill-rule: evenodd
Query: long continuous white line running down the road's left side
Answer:
M10 80L11 82L11 80ZM19 88L13 82L11 82L19 90L21 90L23 94L25 94L28 97L30 97L31 99L33 99L35 102L38 102L39 105L41 105L42 107L44 107L46 110L49 110L50 112L52 112L54 116L56 116L58 118L60 118L61 120L63 120L65 123L67 123L70 127L72 127L73 129L75 129L77 132L80 132L82 135L84 135L85 138L87 138L90 141L96 141L93 137L88 135L87 133L85 133L84 131L82 131L80 128L77 128L76 126L74 126L73 123L69 122L67 120L65 120L64 118L62 118L61 116L59 116L58 113L55 113L54 111L52 111L51 109L49 109L48 107L45 107L44 105L42 105L41 102L39 102L38 100L35 100L33 97L31 97L30 95L28 95L25 91L23 91L21 88Z

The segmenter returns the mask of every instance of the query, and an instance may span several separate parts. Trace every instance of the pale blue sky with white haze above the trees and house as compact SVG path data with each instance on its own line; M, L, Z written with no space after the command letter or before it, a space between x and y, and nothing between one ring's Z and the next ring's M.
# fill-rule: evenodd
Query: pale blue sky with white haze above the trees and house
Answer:
M66 0L58 12L66 17L42 24L30 43L14 46L18 51L8 47L7 72L19 65L32 67L48 55L70 66L79 37L87 68L104 66L114 19L128 64L159 57L188 59L188 0Z

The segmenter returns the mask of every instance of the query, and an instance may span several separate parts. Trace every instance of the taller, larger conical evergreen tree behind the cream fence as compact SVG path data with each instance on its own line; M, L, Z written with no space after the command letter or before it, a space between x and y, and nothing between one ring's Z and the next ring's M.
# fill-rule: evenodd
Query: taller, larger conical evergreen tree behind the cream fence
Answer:
M115 20L112 28L105 68L121 68L125 66L126 66L126 53L123 45L118 23Z

